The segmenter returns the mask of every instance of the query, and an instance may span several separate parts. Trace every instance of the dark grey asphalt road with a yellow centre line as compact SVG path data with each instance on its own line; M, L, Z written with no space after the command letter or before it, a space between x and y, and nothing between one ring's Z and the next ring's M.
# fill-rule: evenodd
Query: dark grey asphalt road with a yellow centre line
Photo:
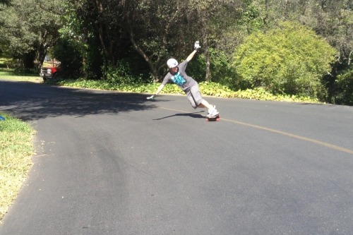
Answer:
M37 130L0 234L353 234L353 107L0 81Z

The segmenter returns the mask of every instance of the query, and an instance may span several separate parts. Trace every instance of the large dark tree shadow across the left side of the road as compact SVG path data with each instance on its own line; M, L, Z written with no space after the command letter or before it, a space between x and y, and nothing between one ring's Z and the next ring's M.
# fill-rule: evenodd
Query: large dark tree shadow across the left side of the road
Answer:
M0 110L24 121L153 109L147 95L0 80Z

